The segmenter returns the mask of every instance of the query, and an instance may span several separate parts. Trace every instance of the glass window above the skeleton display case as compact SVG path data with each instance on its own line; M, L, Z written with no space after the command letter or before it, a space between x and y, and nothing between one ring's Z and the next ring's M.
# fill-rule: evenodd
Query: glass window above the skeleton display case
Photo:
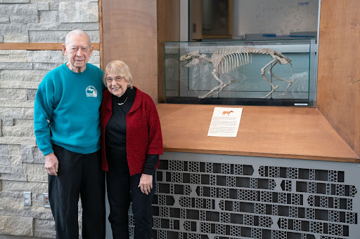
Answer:
M189 41L316 39L319 0L190 0Z

